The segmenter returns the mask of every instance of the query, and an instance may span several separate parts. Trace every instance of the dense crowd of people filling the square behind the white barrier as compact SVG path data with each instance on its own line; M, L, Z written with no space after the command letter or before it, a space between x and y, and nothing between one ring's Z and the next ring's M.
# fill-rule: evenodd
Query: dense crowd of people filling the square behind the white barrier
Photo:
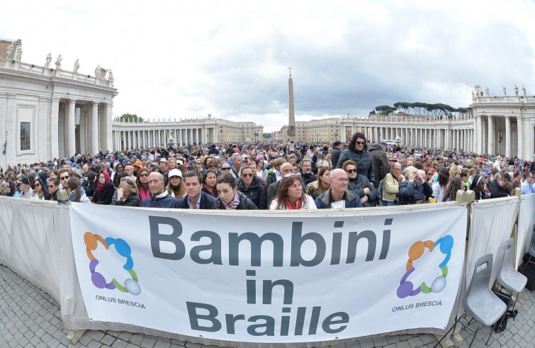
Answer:
M0 169L0 194L115 206L293 210L398 206L535 193L535 159L335 141L159 147ZM63 195L60 195L63 196Z

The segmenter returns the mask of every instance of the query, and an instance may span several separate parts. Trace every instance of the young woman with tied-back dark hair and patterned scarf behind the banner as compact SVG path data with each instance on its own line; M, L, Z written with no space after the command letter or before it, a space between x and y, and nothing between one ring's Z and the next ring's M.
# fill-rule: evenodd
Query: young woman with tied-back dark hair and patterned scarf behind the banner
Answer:
M247 196L237 191L236 179L232 174L222 174L218 177L218 198L213 203L214 209L230 210L256 210L254 205Z

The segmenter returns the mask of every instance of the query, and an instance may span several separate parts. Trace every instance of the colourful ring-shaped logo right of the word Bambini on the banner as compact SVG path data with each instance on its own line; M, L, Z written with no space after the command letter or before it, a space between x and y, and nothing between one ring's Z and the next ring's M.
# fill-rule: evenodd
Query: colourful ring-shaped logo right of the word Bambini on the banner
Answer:
M439 264L439 269L442 272L441 276L434 279L429 287L425 281L422 281L417 288L414 287L411 281L407 281L407 278L416 269L412 266L412 262L416 261L424 254L425 248L429 249L429 253L433 252L436 247L442 254L444 254L444 260ZM409 249L409 260L407 261L407 273L401 277L400 286L398 287L398 298L406 298L407 296L416 296L419 293L439 293L446 288L446 276L448 276L448 262L451 257L451 249L454 247L454 237L451 235L445 235L441 237L437 242L432 240L426 240L422 242L418 240Z

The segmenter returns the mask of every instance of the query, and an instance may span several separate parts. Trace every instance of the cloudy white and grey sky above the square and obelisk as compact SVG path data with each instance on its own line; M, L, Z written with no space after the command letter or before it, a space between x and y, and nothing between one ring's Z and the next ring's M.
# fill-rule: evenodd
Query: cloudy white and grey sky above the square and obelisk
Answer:
M113 70L113 116L213 116L264 131L397 101L467 107L480 84L535 94L533 1L10 1L22 61Z

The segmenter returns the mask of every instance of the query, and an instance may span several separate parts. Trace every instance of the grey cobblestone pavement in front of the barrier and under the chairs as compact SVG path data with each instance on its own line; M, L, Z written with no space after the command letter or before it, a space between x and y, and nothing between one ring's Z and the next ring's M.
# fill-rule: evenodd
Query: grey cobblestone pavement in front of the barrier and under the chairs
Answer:
M473 347L535 347L535 293L524 290L518 300L516 320L509 319L507 330L485 341L489 327L478 332ZM0 265L0 348L6 347L89 347L89 348L202 348L201 344L130 332L87 330L77 344L69 344L69 330L63 327L60 306L40 288L33 286L6 266ZM459 347L468 347L466 329ZM468 337L469 336L469 337ZM466 339L468 337L468 339ZM416 348L433 347L433 335L393 335L336 344L332 348ZM205 346L207 347L207 346Z

